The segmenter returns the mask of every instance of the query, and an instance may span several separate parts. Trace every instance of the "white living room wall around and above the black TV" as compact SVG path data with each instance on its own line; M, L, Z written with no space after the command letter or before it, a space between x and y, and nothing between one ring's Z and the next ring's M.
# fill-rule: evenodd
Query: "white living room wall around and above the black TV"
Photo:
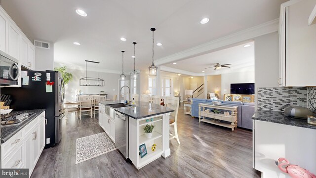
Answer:
M222 74L221 98L224 99L224 94L231 92L231 84L254 83L254 82L255 82L255 71L253 70Z

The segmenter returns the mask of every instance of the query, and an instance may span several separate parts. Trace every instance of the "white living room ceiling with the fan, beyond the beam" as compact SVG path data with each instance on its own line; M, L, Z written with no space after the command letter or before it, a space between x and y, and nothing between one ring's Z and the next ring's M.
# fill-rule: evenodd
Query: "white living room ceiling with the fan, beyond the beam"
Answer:
M244 47L244 45L250 45ZM197 57L188 58L181 61L176 61L176 64L169 63L164 66L179 69L183 71L188 71L191 73L205 73L207 75L219 75L228 72L239 72L242 70L254 70L255 64L255 49L254 42L249 42L226 49L218 50L208 54L199 55ZM232 64L229 65L231 68L221 68L214 70L212 64ZM203 72L204 71L204 72ZM180 72L181 73L181 72ZM186 74L186 73L182 73ZM193 74L194 75L194 74Z

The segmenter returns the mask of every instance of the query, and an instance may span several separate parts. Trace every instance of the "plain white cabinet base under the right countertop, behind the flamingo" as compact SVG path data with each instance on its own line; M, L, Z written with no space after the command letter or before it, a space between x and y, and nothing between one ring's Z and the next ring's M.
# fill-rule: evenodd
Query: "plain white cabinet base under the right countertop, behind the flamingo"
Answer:
M253 120L254 168L262 178L290 178L282 173L275 161L286 158L316 173L316 130Z

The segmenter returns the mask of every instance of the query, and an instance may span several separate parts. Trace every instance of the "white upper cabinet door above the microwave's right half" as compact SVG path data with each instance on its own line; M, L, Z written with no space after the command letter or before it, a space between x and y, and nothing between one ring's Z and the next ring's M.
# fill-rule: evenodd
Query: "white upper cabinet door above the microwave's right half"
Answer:
M19 60L20 34L17 28L9 22L9 55Z

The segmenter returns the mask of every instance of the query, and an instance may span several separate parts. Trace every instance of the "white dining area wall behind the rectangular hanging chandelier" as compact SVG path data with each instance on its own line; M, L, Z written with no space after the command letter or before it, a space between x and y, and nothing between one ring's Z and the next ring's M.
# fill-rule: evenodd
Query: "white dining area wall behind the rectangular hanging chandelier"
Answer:
M55 63L55 67L63 66L63 64ZM108 94L108 98L112 99L114 95L118 94L118 79L120 74L111 74L99 72L99 78L105 80L104 87L94 87L94 86L79 86L79 79L85 77L85 69L83 68L74 68L74 66L67 66L67 72L73 74L73 80L69 82L66 87L65 99L66 101L77 100L76 94L78 90L81 90L83 94L98 94L100 91L105 91ZM96 77L96 71L88 71L88 77ZM127 80L129 75L126 75Z

